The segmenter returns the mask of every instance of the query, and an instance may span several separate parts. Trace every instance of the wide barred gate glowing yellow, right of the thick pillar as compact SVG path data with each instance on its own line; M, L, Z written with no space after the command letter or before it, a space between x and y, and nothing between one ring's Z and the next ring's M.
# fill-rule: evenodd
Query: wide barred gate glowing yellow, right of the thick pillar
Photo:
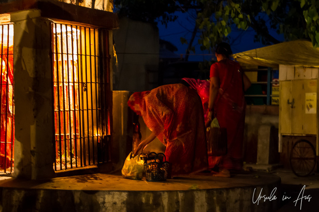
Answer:
M105 152L108 104L99 36L95 28L52 23L55 170L104 162L98 154Z

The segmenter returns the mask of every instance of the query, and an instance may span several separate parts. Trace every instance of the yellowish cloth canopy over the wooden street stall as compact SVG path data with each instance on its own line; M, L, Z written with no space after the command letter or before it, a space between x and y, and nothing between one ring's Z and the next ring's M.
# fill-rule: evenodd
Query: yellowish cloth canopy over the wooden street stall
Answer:
M239 63L278 68L281 65L319 67L319 48L310 41L296 40L269 45L233 55Z

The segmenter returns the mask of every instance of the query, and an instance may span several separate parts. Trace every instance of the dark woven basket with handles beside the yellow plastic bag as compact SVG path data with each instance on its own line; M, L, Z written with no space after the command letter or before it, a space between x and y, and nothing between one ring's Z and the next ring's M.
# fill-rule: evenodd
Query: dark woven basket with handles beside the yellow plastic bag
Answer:
M149 157L153 152L149 153ZM155 153L155 152L154 152ZM166 181L170 163L166 161L165 154L158 153L154 159L147 158L144 163L146 181Z

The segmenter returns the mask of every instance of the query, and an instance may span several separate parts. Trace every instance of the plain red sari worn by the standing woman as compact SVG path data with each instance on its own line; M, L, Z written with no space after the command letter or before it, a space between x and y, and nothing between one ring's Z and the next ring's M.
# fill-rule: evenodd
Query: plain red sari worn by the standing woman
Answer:
M209 77L218 77L219 93L214 101L214 113L220 127L227 130L228 153L222 157L221 167L241 169L246 102L242 69L238 62L224 59L210 67Z

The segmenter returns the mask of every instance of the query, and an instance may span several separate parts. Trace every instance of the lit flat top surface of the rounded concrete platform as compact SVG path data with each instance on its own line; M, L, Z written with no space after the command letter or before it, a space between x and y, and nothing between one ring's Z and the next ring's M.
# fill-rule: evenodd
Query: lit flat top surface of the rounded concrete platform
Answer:
M236 174L231 178L213 177L211 173L199 173L189 177L174 178L163 182L124 179L120 173L86 174L54 178L48 181L31 181L3 177L0 187L53 190L100 191L187 191L198 189L227 189L276 184L280 179L271 173L252 171Z

